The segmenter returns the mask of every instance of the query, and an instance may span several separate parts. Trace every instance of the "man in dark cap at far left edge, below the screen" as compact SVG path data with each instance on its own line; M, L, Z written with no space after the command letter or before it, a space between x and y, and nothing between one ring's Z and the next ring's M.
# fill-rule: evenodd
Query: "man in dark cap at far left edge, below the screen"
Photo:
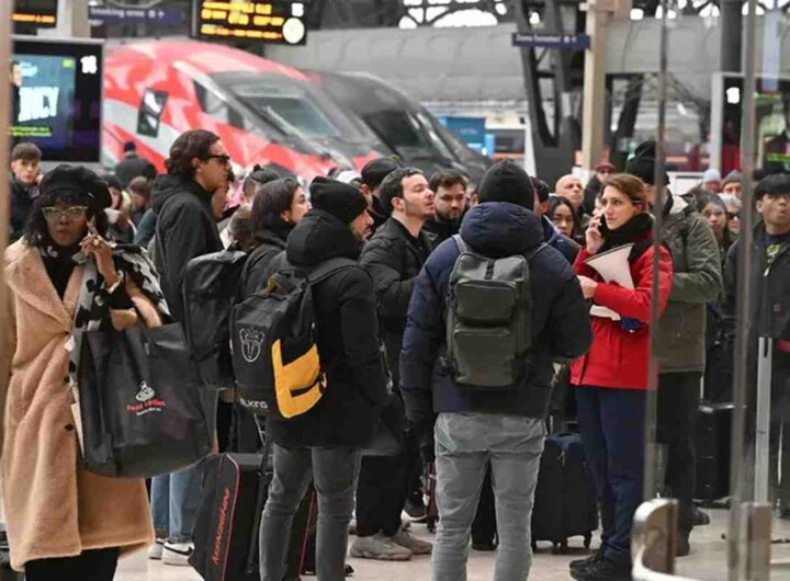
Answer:
M41 149L35 144L16 144L11 150L11 230L9 241L15 242L24 233L33 201L38 197Z

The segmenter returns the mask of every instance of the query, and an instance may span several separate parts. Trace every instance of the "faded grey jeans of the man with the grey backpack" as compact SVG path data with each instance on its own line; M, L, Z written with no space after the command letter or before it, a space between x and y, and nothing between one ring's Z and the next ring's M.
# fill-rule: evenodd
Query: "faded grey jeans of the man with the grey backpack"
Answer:
M545 423L520 415L440 413L435 440L439 527L431 579L466 579L470 529L490 462L499 536L494 580L526 580Z

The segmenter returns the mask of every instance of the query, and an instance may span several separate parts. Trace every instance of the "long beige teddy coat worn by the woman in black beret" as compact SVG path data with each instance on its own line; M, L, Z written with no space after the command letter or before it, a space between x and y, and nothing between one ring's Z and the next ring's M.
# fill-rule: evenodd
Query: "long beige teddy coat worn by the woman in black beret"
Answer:
M11 565L22 570L32 559L86 549L120 547L122 555L140 549L154 540L145 481L82 468L70 411L66 345L83 269L75 269L61 300L35 248L16 242L4 258L8 315L0 377L10 375L10 381L0 380L0 402ZM139 290L132 298L136 306L146 301Z

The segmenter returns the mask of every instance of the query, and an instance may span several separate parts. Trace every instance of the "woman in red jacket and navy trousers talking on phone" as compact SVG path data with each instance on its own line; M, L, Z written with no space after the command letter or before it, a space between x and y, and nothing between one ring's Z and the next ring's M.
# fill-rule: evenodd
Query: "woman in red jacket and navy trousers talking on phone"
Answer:
M663 311L673 266L662 247L658 288L653 288L653 219L639 178L609 179L601 202L602 215L590 221L587 248L574 264L582 290L594 304L594 339L589 352L572 365L571 381L576 386L579 429L603 532L600 549L572 562L571 574L579 581L625 581L631 579L631 522L642 502L651 303L657 298ZM628 258L633 289L603 282L585 263L629 243L633 243Z

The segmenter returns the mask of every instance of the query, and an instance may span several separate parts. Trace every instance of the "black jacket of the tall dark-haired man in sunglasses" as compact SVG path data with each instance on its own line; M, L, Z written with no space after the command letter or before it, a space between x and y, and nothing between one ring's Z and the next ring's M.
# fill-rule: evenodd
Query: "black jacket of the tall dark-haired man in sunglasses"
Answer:
M211 208L212 193L194 180L159 175L154 182L151 208L157 214L154 263L162 293L177 321L183 321L187 263L223 249Z

